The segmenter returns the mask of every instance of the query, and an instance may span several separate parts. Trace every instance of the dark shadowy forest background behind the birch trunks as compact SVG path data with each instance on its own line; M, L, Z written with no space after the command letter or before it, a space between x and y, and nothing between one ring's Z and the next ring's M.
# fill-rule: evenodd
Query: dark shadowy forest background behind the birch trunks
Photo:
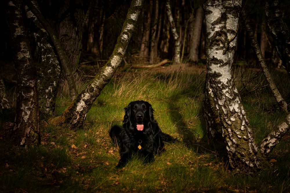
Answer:
M16 82L13 70L12 48L5 15L5 2L1 1L1 70L6 84ZM101 67L111 55L131 1L38 1L41 13L59 36L66 53L72 61L73 71L78 71L81 64L98 65ZM273 45L273 40L266 23L263 1L247 1L245 9L251 22L255 37L269 67L281 67L280 59ZM177 0L171 1L172 13L180 45L184 49L183 60L189 63L205 63L205 21L201 8L203 1ZM138 63L158 63L174 57L173 36L166 14L165 1L159 1L158 12L153 0L146 1L139 16L137 27L128 45L122 65ZM289 1L281 1L284 21L289 24ZM157 16L157 23L155 15ZM198 26L195 19L201 14L203 20ZM156 25L156 26L155 26ZM289 25L288 25L289 26ZM198 53L191 50L191 38L194 28L200 27ZM26 19L26 31L30 40L32 56L35 62L41 61L41 50L35 43L32 33L35 25ZM155 32L156 31L156 32ZM155 48L151 46L152 34L155 33ZM81 45L78 45L81 44ZM74 47L71 47L74 45ZM143 47L142 47L143 46ZM183 48L184 47L184 48ZM154 49L153 60L150 60L151 49ZM190 52L197 54L198 60L190 57ZM238 46L235 61L245 65L255 65L256 56L248 39L247 32L241 25L238 31Z

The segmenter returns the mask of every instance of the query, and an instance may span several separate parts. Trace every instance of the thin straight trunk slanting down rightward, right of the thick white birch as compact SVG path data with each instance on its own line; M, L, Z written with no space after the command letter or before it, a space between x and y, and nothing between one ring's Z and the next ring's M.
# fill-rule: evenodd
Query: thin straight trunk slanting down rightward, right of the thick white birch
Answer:
M246 15L244 15L244 18L246 18ZM259 63L261 65L264 76L265 76L265 78L270 86L270 89L271 89L276 101L278 102L278 105L282 108L283 111L287 112L287 102L282 98L279 90L277 89L275 83L273 82L273 80L271 78L269 69L268 69L268 67L265 63L265 60L262 56L262 53L259 49L258 41L256 40L254 33L253 33L253 30L251 29L251 26L250 26L249 21L247 19L245 20L245 27L246 27L246 30L249 34L250 39L251 39L252 46L254 47L254 50L256 52Z

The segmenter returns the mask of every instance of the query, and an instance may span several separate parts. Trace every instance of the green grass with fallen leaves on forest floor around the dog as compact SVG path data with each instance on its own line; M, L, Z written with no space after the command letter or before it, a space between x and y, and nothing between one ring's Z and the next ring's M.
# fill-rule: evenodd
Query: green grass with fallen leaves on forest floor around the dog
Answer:
M245 90L245 82L247 90L266 84L256 70L235 68L238 90ZM283 96L289 94L285 74L273 73ZM0 139L0 192L289 192L289 136L270 155L277 162L257 175L231 172L207 146L204 80L205 73L128 70L106 85L83 128L42 125L41 145L28 149ZM55 115L69 104L67 92L59 93ZM136 157L116 169L118 147L108 130L122 124L124 107L133 100L150 102L162 131L180 141L166 143L153 163ZM242 102L257 143L285 117L267 87L247 93Z

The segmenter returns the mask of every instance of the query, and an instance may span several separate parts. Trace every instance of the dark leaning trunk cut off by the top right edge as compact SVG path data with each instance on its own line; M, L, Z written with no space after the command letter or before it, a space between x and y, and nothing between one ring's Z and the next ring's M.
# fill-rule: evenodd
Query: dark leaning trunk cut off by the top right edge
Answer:
M290 32L283 20L278 0L265 1L265 12L271 36L279 57L290 76Z

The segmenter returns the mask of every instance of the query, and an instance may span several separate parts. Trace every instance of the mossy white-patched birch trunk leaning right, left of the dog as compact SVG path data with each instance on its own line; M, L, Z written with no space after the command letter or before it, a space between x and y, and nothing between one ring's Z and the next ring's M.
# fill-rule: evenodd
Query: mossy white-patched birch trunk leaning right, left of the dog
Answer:
M131 2L121 34L117 39L115 49L108 62L100 69L99 73L88 84L87 88L65 109L64 113L50 121L52 124L70 123L73 128L82 126L93 102L100 95L102 89L110 81L121 64L143 4L144 0L133 0Z

